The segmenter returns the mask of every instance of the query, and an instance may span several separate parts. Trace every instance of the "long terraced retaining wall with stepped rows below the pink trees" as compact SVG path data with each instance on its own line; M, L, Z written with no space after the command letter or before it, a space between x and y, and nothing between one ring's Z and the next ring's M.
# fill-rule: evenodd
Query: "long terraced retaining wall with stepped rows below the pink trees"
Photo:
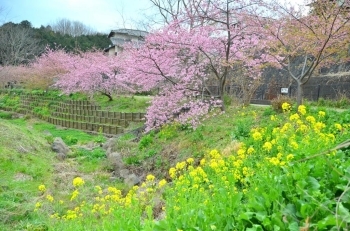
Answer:
M87 100L65 100L36 94L17 94L16 107L1 106L0 110L36 116L49 123L67 128L120 134L131 122L143 122L145 113L122 113L103 110Z

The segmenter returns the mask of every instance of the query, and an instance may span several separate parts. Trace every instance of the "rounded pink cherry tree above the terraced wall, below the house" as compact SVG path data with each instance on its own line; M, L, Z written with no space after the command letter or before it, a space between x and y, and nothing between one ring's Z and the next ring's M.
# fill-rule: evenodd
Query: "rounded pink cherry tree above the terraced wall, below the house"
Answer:
M30 77L47 79L51 86L65 94L101 93L113 100L113 93L132 91L130 86L118 79L118 59L106 56L101 51L73 54L63 49L47 49L32 65Z

